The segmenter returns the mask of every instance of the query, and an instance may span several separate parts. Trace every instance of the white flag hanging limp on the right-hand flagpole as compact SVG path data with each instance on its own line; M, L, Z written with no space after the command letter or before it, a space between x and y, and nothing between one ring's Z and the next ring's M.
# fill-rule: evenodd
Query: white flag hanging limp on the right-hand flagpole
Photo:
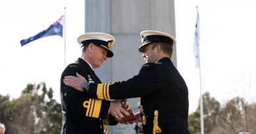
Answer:
M197 9L196 17L196 30L194 34L194 58L196 59L196 68L200 68L200 51L199 51L199 40L200 40L200 29L199 29L199 13Z

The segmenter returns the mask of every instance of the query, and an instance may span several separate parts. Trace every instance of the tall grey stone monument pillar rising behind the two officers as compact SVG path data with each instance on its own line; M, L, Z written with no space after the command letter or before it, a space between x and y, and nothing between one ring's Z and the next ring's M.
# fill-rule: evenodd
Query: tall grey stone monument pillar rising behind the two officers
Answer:
M85 33L104 32L114 35L114 57L95 72L102 82L127 80L139 73L144 64L138 51L140 31L157 30L175 37L174 0L86 0ZM178 41L179 42L179 41ZM177 67L176 46L172 61ZM140 99L128 99L134 112ZM135 124L109 127L110 133L134 134Z

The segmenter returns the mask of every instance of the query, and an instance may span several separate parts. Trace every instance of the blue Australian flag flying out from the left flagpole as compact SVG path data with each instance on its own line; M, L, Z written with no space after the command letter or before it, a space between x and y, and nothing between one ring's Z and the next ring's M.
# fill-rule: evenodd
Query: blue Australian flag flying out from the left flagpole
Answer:
M63 25L64 25L64 17L61 16L56 22L50 25L50 27L41 31L40 33L37 33L37 35L34 35L33 37L30 37L28 39L23 39L22 41L20 41L20 44L21 46L24 46L29 42L35 41L43 37L53 36L53 35L59 35L60 37L62 37Z

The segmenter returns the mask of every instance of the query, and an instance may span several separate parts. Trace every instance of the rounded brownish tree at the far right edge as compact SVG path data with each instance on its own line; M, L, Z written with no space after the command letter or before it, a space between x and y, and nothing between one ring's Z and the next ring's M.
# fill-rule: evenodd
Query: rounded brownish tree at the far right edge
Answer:
M255 110L255 103L248 105L244 98L234 97L221 109L219 127L223 133L256 133Z

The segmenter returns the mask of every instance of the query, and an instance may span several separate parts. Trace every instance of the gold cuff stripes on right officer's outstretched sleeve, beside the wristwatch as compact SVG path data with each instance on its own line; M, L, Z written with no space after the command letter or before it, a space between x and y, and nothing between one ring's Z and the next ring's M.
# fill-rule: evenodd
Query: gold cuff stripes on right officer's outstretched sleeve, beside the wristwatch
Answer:
M115 82L112 83L107 83L107 84L98 84L97 86L97 91L96 95L98 99L110 99L110 85L114 84Z

